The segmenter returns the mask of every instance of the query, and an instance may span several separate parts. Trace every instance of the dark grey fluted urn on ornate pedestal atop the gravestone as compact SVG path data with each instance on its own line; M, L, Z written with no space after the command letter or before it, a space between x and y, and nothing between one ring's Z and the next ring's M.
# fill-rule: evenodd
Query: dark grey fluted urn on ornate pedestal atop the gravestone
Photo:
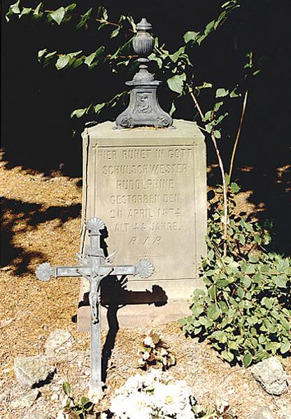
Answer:
M155 40L149 31L152 25L145 17L136 25L137 34L132 40L134 52L139 55L139 72L133 80L126 82L132 87L128 108L116 118L116 128L155 126L167 128L173 119L164 112L157 101L157 87L161 82L148 72L148 55L152 53Z

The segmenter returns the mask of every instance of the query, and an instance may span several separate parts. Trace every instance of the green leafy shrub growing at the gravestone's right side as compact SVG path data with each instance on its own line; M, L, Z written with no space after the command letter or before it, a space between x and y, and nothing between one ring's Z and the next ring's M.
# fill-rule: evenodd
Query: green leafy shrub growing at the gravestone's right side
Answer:
M221 189L208 220L208 255L201 264L206 289L194 291L192 315L180 320L188 335L207 338L227 362L248 367L291 347L290 258L269 252L263 228L234 214L229 191L227 256L223 256Z

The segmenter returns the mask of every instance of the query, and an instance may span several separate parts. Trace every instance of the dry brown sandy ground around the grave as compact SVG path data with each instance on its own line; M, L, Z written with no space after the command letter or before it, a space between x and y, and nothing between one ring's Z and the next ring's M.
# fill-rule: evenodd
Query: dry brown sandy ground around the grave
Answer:
M23 392L13 373L13 359L43 353L45 339L57 328L71 332L75 344L56 361L52 382L40 388L31 411L44 411L55 418L62 381L70 381L77 396L86 391L89 374L89 336L76 332L79 279L64 278L41 283L34 270L47 260L71 265L79 247L80 179L44 177L0 167L3 195L2 251L5 265L0 270L0 418L21 418L23 411L12 409L10 400ZM239 205L246 206L248 193L240 194ZM176 352L177 365L170 372L192 385L201 404L227 399L239 419L248 419L259 406L269 406L276 419L291 418L291 390L281 397L267 395L241 367L229 367L206 344L185 339L176 323L159 328L164 340ZM144 330L119 330L108 362L106 397L138 372L136 348ZM103 341L106 332L103 333ZM291 360L282 360L291 376ZM138 418L136 418L138 419Z

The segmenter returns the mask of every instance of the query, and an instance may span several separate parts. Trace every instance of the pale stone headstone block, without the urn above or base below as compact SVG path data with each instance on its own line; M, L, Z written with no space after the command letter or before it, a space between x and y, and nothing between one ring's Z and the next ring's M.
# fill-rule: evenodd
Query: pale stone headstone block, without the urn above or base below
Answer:
M129 289L150 282L178 299L191 295L206 251L206 151L196 124L174 124L175 130L116 131L110 122L86 128L83 220L104 219L116 263L154 263L150 280L130 281Z

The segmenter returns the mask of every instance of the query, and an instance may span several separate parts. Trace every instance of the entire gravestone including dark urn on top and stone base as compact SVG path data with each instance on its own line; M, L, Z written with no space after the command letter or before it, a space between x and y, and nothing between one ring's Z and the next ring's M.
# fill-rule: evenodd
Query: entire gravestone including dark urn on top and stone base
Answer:
M120 325L158 323L187 314L187 298L201 288L198 269L206 255L206 147L197 124L172 120L159 106L159 81L148 72L154 40L145 18L133 38L139 71L129 105L116 119L83 132L83 233L99 214L109 228L106 243L122 262L149 258L148 280L102 288L103 304L125 305ZM112 281L111 281L112 284ZM87 282L80 291L78 328L87 330ZM171 304L170 304L171 303ZM132 316L132 305L135 315ZM148 305L150 304L150 306Z

